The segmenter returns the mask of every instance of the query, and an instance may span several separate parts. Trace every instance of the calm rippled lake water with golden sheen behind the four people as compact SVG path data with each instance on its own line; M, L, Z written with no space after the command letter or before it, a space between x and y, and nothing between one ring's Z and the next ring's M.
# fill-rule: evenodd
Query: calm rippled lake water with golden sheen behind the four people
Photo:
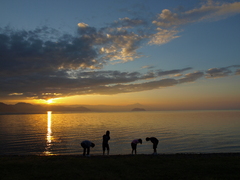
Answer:
M130 154L142 138L139 154L152 153L148 136L159 139L158 153L240 152L240 111L167 111L0 115L0 155L102 154L102 136L111 132L110 154Z

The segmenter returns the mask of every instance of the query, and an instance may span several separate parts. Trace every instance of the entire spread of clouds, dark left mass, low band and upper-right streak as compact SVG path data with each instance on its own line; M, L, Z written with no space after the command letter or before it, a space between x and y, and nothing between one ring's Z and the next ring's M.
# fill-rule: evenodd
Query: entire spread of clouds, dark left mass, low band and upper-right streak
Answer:
M238 65L211 68L206 72L186 72L191 71L191 67L154 70L153 66L144 66L139 72L102 70L106 64L124 63L143 56L139 49L144 45L164 44L179 37L177 27L180 25L225 18L239 10L238 2L209 1L182 13L165 9L152 22L125 17L100 29L80 22L75 35L49 27L0 28L0 97L46 99L129 93L194 82L204 75L206 78L239 75L239 69L233 71ZM149 71L143 73L147 69Z

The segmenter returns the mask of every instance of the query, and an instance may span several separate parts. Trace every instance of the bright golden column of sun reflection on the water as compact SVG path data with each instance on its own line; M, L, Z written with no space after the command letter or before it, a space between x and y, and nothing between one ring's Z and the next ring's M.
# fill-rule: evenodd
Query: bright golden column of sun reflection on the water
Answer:
M44 154L45 155L53 155L53 153L51 152L52 140L53 140L53 136L52 136L52 111L47 112L47 118L48 118L47 135L46 135L47 142L46 142L46 147L45 147Z

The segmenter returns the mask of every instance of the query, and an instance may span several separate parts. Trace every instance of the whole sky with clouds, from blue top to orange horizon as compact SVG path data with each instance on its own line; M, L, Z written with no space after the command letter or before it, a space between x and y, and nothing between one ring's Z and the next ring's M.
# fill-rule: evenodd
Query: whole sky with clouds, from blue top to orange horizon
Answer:
M240 1L1 0L0 102L240 109Z

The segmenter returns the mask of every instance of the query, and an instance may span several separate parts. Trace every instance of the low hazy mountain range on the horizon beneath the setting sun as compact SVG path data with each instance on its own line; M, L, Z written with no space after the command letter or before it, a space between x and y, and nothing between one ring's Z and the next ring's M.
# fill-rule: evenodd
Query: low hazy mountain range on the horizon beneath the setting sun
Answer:
M91 111L86 107L55 106L55 105L32 105L29 103L17 103L7 105L0 102L0 113L46 113L46 111Z

